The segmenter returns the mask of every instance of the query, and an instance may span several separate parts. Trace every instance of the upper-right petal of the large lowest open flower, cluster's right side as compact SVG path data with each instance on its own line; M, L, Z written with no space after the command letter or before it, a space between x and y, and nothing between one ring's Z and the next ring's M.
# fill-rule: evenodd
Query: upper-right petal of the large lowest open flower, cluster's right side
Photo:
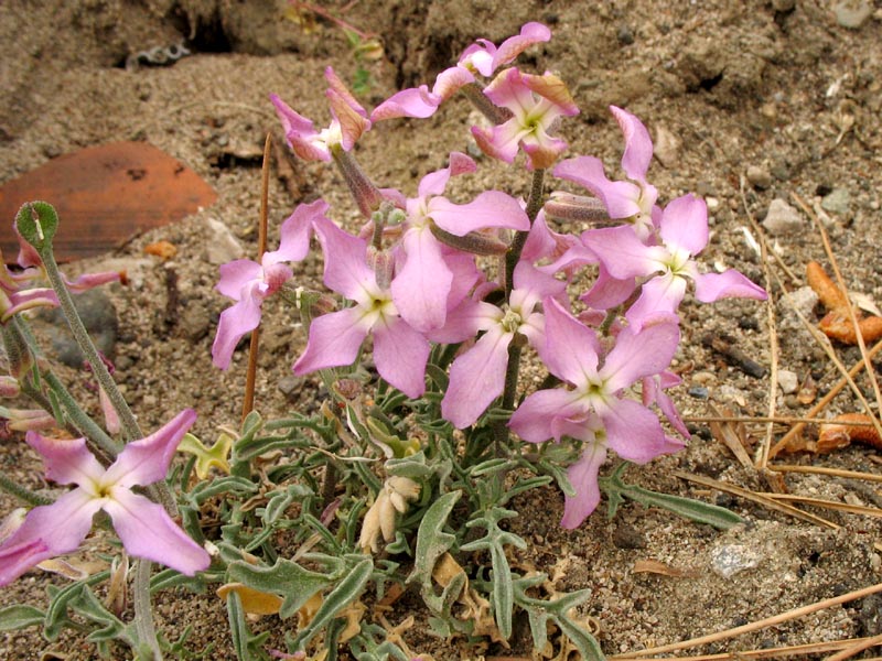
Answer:
M639 333L623 329L600 371L609 392L619 392L643 377L663 371L670 365L679 344L680 329L676 324L646 326Z

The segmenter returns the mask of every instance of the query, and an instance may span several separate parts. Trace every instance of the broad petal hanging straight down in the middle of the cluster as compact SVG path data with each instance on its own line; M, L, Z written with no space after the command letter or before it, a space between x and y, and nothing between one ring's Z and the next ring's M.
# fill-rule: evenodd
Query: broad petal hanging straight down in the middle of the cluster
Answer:
M444 325L453 284L453 273L444 262L441 247L428 227L406 231L401 246L405 264L390 286L398 314L421 333L440 328Z

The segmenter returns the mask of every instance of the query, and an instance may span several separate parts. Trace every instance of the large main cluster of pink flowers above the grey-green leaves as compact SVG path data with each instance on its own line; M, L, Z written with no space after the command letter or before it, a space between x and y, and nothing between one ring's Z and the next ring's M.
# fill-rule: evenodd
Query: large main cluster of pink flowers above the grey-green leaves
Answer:
M574 496L567 497L562 524L572 528L598 505L598 472L609 448L645 463L682 446L656 410L688 436L665 392L679 382L667 368L679 344L677 310L688 283L701 302L762 300L765 293L734 270L701 271L696 256L709 240L704 202L685 195L664 209L657 205L658 191L646 178L653 143L634 115L611 108L625 139L625 178L610 180L593 156L559 161L568 144L557 127L579 112L563 82L516 67L496 73L549 37L547 28L529 23L499 47L482 40L442 72L431 90L423 85L399 91L369 115L329 69L333 121L321 132L273 96L293 151L303 159L337 161L367 221L361 234L349 234L329 218L325 203L300 206L282 226L279 250L265 254L261 264L224 267L218 290L236 304L222 317L214 356L218 366L228 366L236 342L257 326L262 301L292 278L282 262L302 259L314 232L324 256L324 283L348 303L312 321L294 372L352 365L372 337L380 377L419 398L427 388L431 347L461 344L441 414L464 429L480 424L504 394L513 350L519 354L529 345L557 386L528 394L508 426L529 443L566 441L582 448L568 469ZM478 77L494 74L478 87ZM456 90L475 100L475 89L476 105L495 118L490 129L472 129L485 154L513 163L524 152L540 184L538 195L548 170L592 197L567 195L560 204L561 197L552 196L546 213L534 186L526 204L502 191L455 204L443 196L448 181L476 169L460 153L450 155L448 167L423 177L412 198L380 193L361 171L352 151L374 123L429 117ZM578 220L599 214L605 226L580 236L549 227L552 215ZM488 270L495 262L486 256L494 254L508 268ZM574 291L587 278L591 285ZM579 312L573 297L581 301Z

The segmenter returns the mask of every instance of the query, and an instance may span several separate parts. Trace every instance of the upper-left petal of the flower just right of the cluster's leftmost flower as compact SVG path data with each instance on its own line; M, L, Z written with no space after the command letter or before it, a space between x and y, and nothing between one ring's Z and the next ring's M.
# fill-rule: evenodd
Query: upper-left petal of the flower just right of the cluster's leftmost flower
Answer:
M374 271L365 261L365 240L333 223L318 225L315 232L324 250L324 283L347 299L364 301L365 292L376 289Z

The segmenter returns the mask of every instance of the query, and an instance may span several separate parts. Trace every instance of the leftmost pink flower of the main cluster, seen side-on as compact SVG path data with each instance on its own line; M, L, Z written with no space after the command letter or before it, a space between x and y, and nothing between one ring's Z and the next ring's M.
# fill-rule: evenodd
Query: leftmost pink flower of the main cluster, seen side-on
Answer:
M237 259L220 267L217 291L236 303L220 313L212 359L220 369L229 367L236 345L260 324L263 300L275 294L293 273L283 262L301 261L310 248L316 223L326 221L327 203L316 199L302 204L282 223L279 249L265 252L260 263Z

